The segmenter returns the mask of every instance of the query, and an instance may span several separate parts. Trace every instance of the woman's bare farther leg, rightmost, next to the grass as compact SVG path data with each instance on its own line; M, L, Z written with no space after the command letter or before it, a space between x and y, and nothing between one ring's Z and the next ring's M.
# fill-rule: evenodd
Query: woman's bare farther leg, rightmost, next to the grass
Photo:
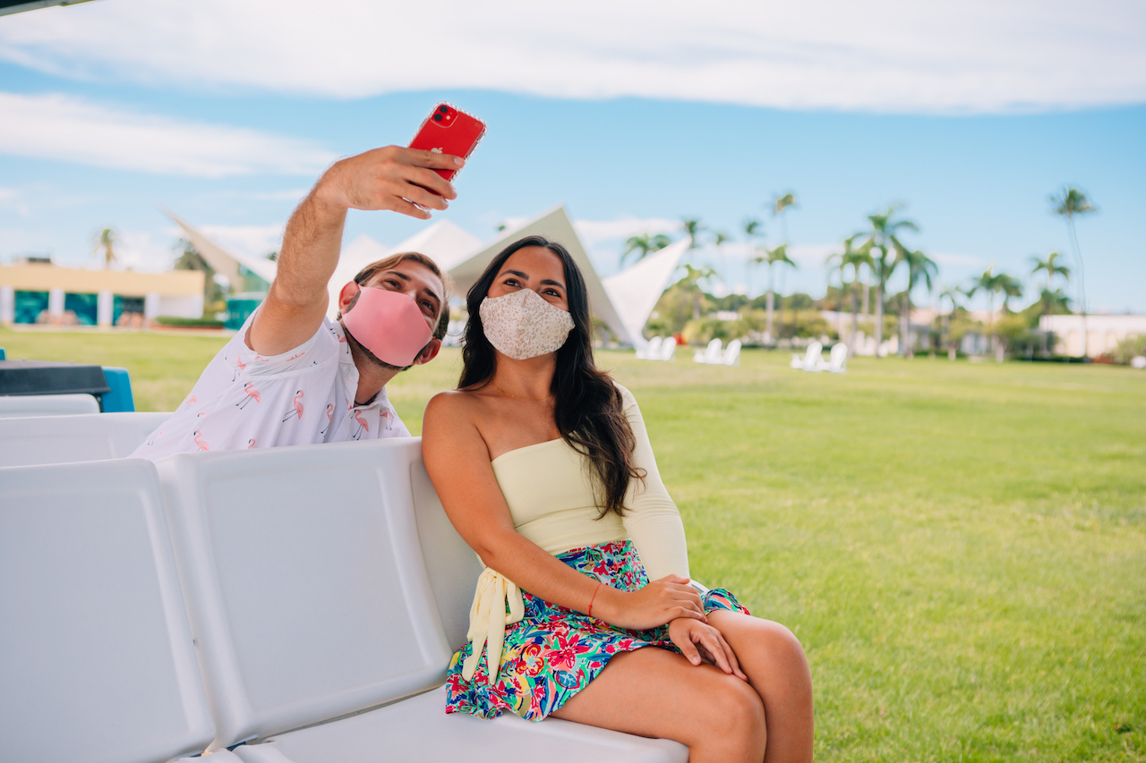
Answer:
M811 761L811 671L800 642L778 622L728 609L709 612L708 623L732 647L764 702L767 763Z

